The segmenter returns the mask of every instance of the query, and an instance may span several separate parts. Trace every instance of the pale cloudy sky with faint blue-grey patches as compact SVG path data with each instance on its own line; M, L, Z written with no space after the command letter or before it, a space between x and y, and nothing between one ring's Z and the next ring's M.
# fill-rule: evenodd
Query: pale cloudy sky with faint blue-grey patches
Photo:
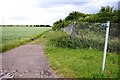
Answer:
M0 0L0 25L53 25L72 11L97 13L120 0Z

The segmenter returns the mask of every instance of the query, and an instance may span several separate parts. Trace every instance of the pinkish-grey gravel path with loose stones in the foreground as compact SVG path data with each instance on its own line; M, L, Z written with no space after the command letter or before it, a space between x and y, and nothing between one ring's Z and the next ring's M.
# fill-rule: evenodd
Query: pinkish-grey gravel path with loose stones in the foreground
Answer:
M48 66L44 46L27 44L2 54L2 73L14 78L57 78Z

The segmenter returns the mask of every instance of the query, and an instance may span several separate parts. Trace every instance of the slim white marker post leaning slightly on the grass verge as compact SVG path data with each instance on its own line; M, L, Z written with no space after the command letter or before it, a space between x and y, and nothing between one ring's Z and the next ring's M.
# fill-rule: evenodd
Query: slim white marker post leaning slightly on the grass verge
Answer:
M104 72L104 67L105 67L105 59L106 59L106 52L107 52L107 43L108 43L109 27L110 27L110 21L107 21L105 47L104 47L104 56L103 56L103 63L102 63L102 72Z

